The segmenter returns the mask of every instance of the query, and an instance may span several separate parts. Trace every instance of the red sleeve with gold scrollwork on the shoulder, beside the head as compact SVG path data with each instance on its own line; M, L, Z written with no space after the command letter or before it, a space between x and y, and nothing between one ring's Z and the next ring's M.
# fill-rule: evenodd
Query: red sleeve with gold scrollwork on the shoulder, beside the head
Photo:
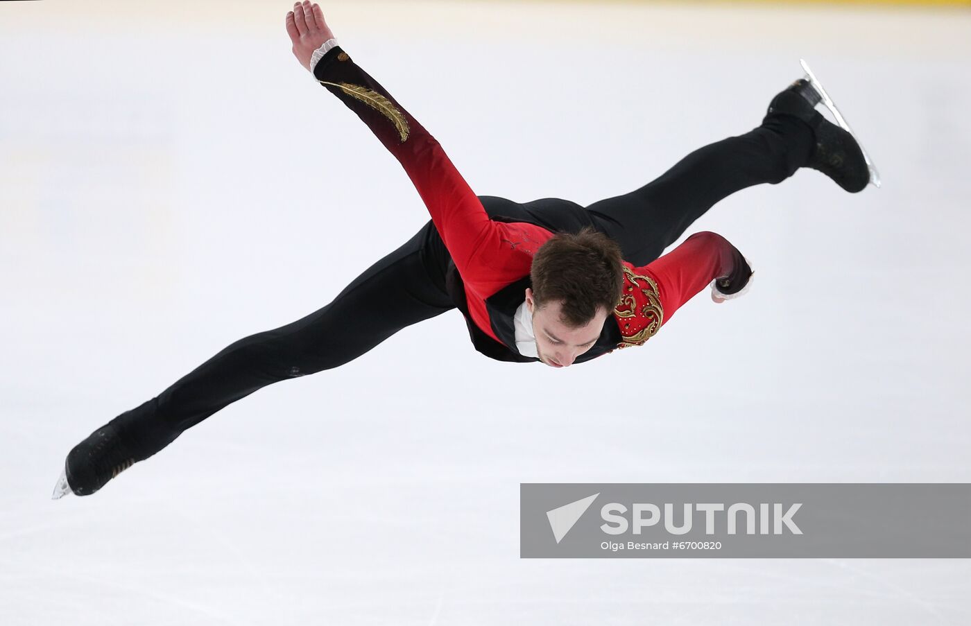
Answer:
M734 292L751 276L742 253L711 232L691 235L681 246L643 267L626 265L623 293L614 311L621 346L643 345L712 280L728 280Z

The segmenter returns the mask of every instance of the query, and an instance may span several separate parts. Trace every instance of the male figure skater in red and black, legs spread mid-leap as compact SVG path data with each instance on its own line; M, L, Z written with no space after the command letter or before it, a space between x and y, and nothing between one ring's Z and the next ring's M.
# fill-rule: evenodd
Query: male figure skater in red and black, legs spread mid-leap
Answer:
M54 497L94 493L253 391L338 367L455 308L476 349L502 361L560 368L641 346L709 284L720 302L751 280L746 259L715 233L696 233L661 256L721 198L800 167L851 192L871 181L852 134L815 110L825 93L801 80L772 100L753 131L698 149L625 195L586 209L477 197L438 142L337 45L318 5L294 5L285 23L297 59L401 162L431 221L329 305L227 346L96 430L68 454Z

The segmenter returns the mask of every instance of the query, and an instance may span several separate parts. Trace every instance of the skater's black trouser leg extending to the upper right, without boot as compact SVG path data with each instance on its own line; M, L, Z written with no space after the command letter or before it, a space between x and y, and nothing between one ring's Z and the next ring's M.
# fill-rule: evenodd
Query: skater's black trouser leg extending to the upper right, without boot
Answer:
M812 128L790 115L767 115L739 137L697 149L660 178L587 207L619 242L624 258L645 265L722 198L762 182L786 180L814 148Z

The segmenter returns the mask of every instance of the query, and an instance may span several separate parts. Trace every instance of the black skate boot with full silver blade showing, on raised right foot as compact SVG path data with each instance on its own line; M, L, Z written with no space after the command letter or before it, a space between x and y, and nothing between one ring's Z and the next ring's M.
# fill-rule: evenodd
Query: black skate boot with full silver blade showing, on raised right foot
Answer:
M843 115L816 81L805 61L803 68L807 72L806 78L793 82L773 98L769 104L769 115L793 115L813 128L816 148L806 167L820 171L851 193L862 191L869 182L879 187L880 176ZM820 103L829 109L839 125L830 122L816 110Z

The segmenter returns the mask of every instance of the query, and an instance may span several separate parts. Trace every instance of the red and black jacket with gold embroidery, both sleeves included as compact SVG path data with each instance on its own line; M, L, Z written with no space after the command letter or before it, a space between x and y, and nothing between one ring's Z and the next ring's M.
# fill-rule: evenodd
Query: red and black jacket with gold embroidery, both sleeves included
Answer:
M587 214L575 205L561 206L572 203L548 200L535 210L528 205L507 206L508 214L500 215L504 209L501 201L480 199L439 143L346 52L339 47L329 50L318 62L315 76L368 125L415 183L451 256L447 287L466 316L476 348L504 361L538 360L519 355L512 321L529 286L533 254L554 232L579 230L578 225L614 234L617 229L597 219L609 207L594 208ZM613 204L628 202L623 199ZM494 211L488 212L485 205L492 205ZM643 209L639 219L652 221L651 210ZM664 226L653 223L656 234L650 239L660 236L673 241L681 235L664 232ZM636 235L636 229L619 237L621 246L631 234ZM655 248L662 249L670 241ZM599 341L578 357L578 363L618 346L643 344L712 280L727 278L735 289L741 289L751 275L738 250L714 233L692 236L668 255L650 260L642 267L624 264L621 304L608 318Z

